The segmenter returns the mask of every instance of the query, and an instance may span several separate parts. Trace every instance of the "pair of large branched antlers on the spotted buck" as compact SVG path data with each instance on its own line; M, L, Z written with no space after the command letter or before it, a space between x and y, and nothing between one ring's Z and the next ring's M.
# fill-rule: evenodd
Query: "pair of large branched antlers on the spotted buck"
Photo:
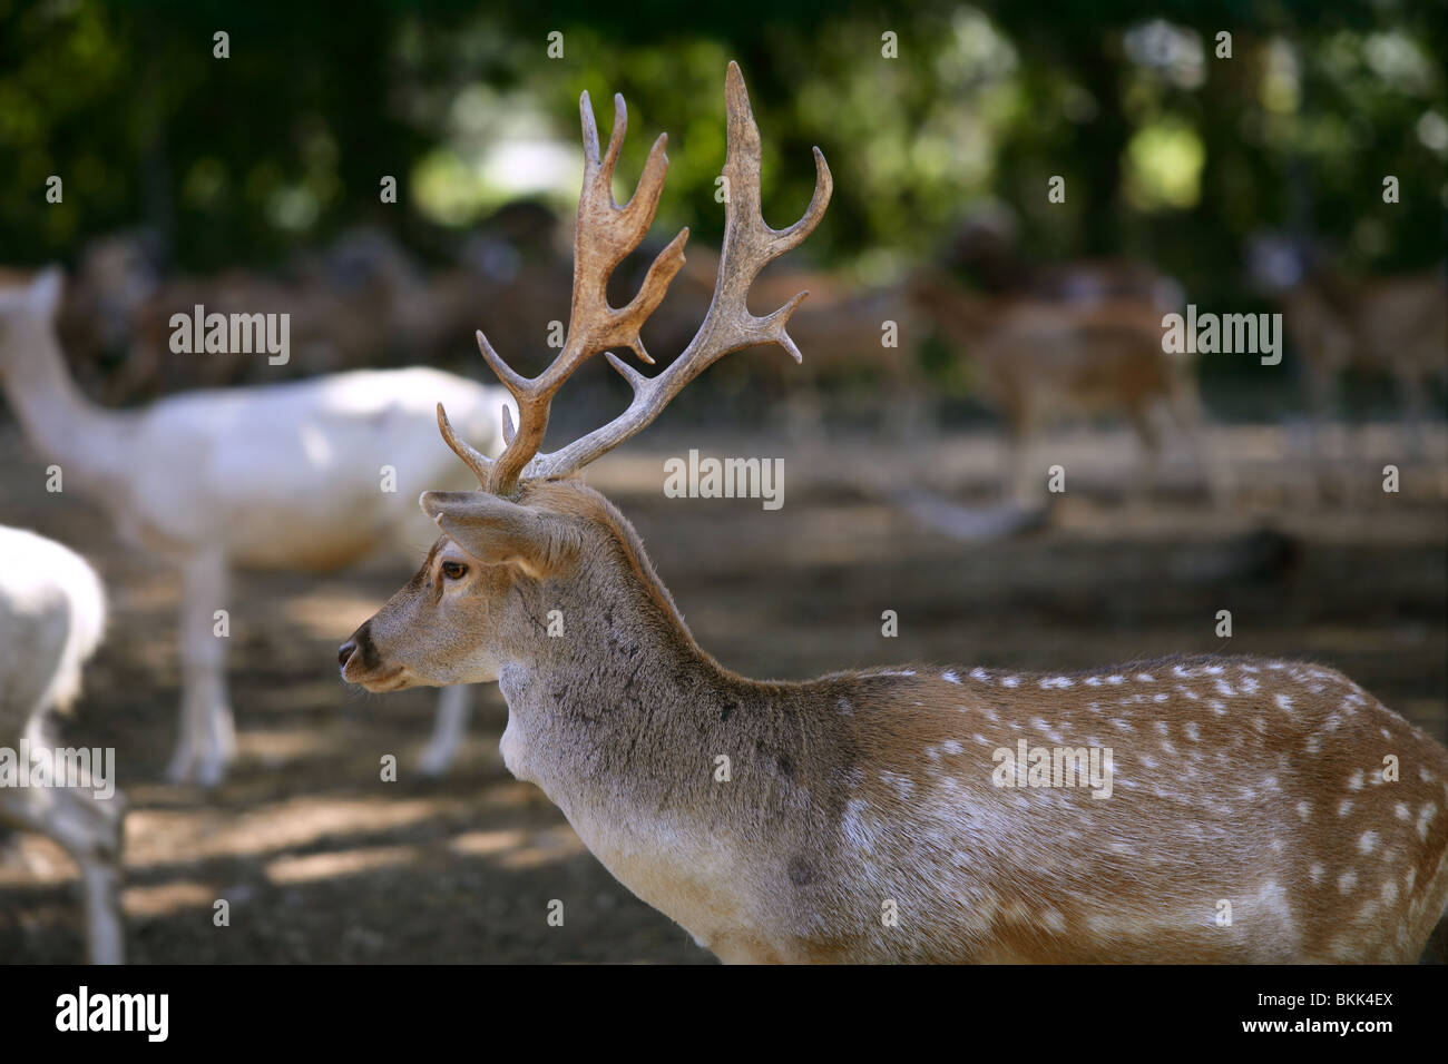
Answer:
M584 190L578 200L578 224L573 233L573 304L569 313L568 337L553 363L529 379L513 372L492 350L487 337L478 333L482 358L498 375L518 404L518 424L504 408L504 439L507 447L497 459L489 459L459 439L447 421L443 405L437 404L437 427L456 455L478 475L482 486L495 495L513 495L520 479L565 476L607 455L624 440L639 433L695 376L718 359L741 347L778 343L795 362L801 360L789 333L789 316L808 295L799 292L779 310L765 317L749 313L746 300L759 271L785 252L804 242L820 224L830 203L834 182L818 148L815 156L815 190L804 217L788 229L770 229L759 207L759 127L749 106L749 93L737 64L728 65L724 83L728 111L728 149L724 162L725 206L724 245L720 253L714 300L699 330L681 355L656 376L644 376L618 359L610 347L631 347L647 363L653 363L639 339L639 329L657 308L669 290L669 282L683 266L683 243L689 230L683 229L659 252L639 288L639 294L621 308L608 305L608 276L624 258L639 246L653 223L663 191L663 177L669 161L663 155L668 135L660 135L649 152L639 188L620 207L614 203L613 177L628 124L624 100L614 96L614 129L608 151L599 158L598 127L594 109L584 93L579 111L584 122ZM633 400L623 414L601 428L553 453L540 455L547 430L549 407L563 382L586 359L608 352L608 363L623 373L633 388Z

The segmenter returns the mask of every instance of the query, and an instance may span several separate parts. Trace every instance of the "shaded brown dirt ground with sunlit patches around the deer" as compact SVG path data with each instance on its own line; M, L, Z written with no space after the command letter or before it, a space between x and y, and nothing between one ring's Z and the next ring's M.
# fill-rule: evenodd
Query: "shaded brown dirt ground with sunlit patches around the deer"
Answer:
M662 428L662 427L660 427ZM990 431L902 447L857 437L782 450L775 434L652 431L589 473L634 521L699 641L760 677L928 660L1069 670L1176 651L1308 657L1345 670L1435 735L1448 734L1448 430L1431 460L1394 457L1389 426L1354 430L1351 462L1312 499L1299 442L1276 427L1218 428L1237 501L1213 507L1184 456L1148 501L1121 497L1124 431L1054 439L1067 491L1048 527L963 543L891 499L928 485L989 497ZM670 499L663 459L785 459L785 505ZM1381 466L1402 492L1381 491ZM132 812L125 908L135 963L708 963L636 900L498 754L504 706L479 689L456 770L413 772L430 692L349 693L336 646L410 572L379 563L326 578L242 575L232 608L240 760L207 793L161 782L177 727L171 573L119 544L97 510L46 495L43 463L0 426L0 521L90 557L111 596L109 637L65 722L71 743L114 746ZM899 614L899 636L880 614ZM1234 634L1213 634L1231 609ZM378 779L398 756L397 783ZM49 841L0 847L0 960L83 955L74 867ZM230 902L230 926L213 902ZM550 899L565 903L549 926Z

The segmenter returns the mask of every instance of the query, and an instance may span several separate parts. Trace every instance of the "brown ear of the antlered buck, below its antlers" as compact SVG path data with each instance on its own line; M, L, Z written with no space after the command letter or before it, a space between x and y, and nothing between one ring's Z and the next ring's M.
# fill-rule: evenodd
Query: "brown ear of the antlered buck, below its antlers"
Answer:
M562 521L485 491L424 491L417 502L453 543L485 565L515 565L543 579L579 556L578 534Z

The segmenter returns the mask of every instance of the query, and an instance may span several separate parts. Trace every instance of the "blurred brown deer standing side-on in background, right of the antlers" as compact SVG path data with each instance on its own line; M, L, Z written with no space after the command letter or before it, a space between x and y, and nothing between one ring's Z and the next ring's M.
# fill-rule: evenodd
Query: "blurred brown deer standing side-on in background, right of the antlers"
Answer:
M1206 440L1206 417L1190 363L1161 345L1161 304L1141 297L1058 301L986 297L934 271L918 271L909 298L967 352L983 398L1006 420L1009 462L1002 497L1025 507L1044 499L1034 460L1045 427L1061 415L1124 414L1141 446L1137 497L1157 479L1166 410L1186 437L1218 502L1231 491Z

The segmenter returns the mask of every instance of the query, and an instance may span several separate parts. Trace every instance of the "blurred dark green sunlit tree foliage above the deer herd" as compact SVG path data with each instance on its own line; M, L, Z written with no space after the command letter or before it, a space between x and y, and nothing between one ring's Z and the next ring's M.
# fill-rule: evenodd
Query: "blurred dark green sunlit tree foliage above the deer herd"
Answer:
M1174 29L1153 36L1163 20ZM507 138L576 156L582 90L605 130L611 94L628 98L620 195L668 130L659 232L712 240L736 58L766 139L769 216L802 208L818 143L837 191L807 253L863 278L934 253L988 198L1014 210L1032 258L1142 256L1203 298L1241 291L1245 245L1267 227L1357 269L1405 268L1442 248L1445 22L1442 3L1392 0L904 13L0 0L0 258L74 261L135 224L194 271L275 263L359 221L442 248L513 194ZM217 30L227 59L213 58ZM886 30L898 59L882 56ZM1229 59L1213 55L1219 30ZM45 201L52 174L62 204ZM385 174L397 206L378 203ZM1381 201L1386 174L1399 204ZM1053 175L1063 204L1047 201ZM575 182L542 194L566 210Z

